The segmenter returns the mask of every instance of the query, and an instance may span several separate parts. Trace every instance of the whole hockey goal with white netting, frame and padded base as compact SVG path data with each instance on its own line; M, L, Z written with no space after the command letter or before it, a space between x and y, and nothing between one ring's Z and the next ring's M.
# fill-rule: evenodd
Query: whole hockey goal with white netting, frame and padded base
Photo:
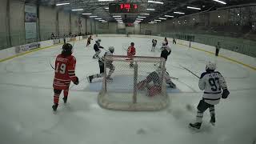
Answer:
M112 80L106 78L108 61L113 61L115 67ZM164 66L165 60L159 57L106 56L98 104L110 110L162 110L170 102L166 94Z

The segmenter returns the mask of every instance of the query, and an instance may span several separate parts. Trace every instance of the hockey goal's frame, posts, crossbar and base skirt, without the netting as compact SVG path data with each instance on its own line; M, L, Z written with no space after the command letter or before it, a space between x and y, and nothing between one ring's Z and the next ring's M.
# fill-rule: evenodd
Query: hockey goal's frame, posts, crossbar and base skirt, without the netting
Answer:
M104 98L105 94L107 94L107 81L106 81L106 60L113 60L115 62L134 62L134 89L133 89L133 96L132 102L107 102ZM144 59L144 60L142 60ZM170 100L169 96L166 93L166 86L164 81L164 73L161 74L162 84L161 84L161 94L162 97L166 98L165 102L159 102L158 104L155 103L140 103L137 101L138 97L138 62L159 62L161 63L162 71L165 70L165 59L161 57L146 57L146 56L134 56L132 59L128 58L126 55L106 55L104 61L104 78L102 81L102 90L98 94L98 104L102 108L106 108L109 110L129 110L129 111L153 111L153 110L162 110L169 106Z

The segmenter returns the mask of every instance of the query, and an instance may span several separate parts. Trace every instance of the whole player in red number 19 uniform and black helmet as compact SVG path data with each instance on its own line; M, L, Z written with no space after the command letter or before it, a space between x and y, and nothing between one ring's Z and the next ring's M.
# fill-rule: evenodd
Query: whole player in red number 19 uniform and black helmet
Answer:
M58 98L62 93L64 94L63 101L66 103L69 94L70 81L78 85L78 77L75 76L76 59L73 55L73 46L70 43L65 43L62 46L62 54L58 54L55 60L55 75L54 75L54 105L53 110L56 111L58 107Z

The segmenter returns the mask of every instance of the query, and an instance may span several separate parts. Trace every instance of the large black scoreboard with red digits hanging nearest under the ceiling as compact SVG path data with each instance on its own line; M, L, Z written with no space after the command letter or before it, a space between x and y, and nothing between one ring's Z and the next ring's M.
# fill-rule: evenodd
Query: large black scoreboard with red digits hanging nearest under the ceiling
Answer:
M143 9L138 3L110 3L109 12L111 13L139 13Z

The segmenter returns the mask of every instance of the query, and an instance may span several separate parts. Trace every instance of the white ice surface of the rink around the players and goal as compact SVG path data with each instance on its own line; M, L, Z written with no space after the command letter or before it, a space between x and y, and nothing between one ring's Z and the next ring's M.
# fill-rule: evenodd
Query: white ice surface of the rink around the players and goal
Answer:
M97 38L94 38L94 40ZM151 52L152 38L103 37L101 45L114 46L115 54L126 54L124 48L135 43L136 55L159 56ZM71 42L72 44L73 42ZM158 39L159 49L162 39ZM98 92L90 90L86 80L96 74L98 61L92 58L94 41L75 42L76 74L80 84L70 85L66 106L62 103L56 114L52 111L54 58L62 46L13 58L0 63L0 143L1 144L255 144L256 143L256 73L254 70L215 58L212 54L172 45L166 62L167 71L178 91L169 91L170 106L156 112L105 110L98 106ZM104 50L102 50L104 52ZM230 97L215 107L216 126L209 124L206 110L202 130L188 128L196 111L186 105L198 105L202 91L195 74L205 71L207 61L217 62L217 70L226 78Z

